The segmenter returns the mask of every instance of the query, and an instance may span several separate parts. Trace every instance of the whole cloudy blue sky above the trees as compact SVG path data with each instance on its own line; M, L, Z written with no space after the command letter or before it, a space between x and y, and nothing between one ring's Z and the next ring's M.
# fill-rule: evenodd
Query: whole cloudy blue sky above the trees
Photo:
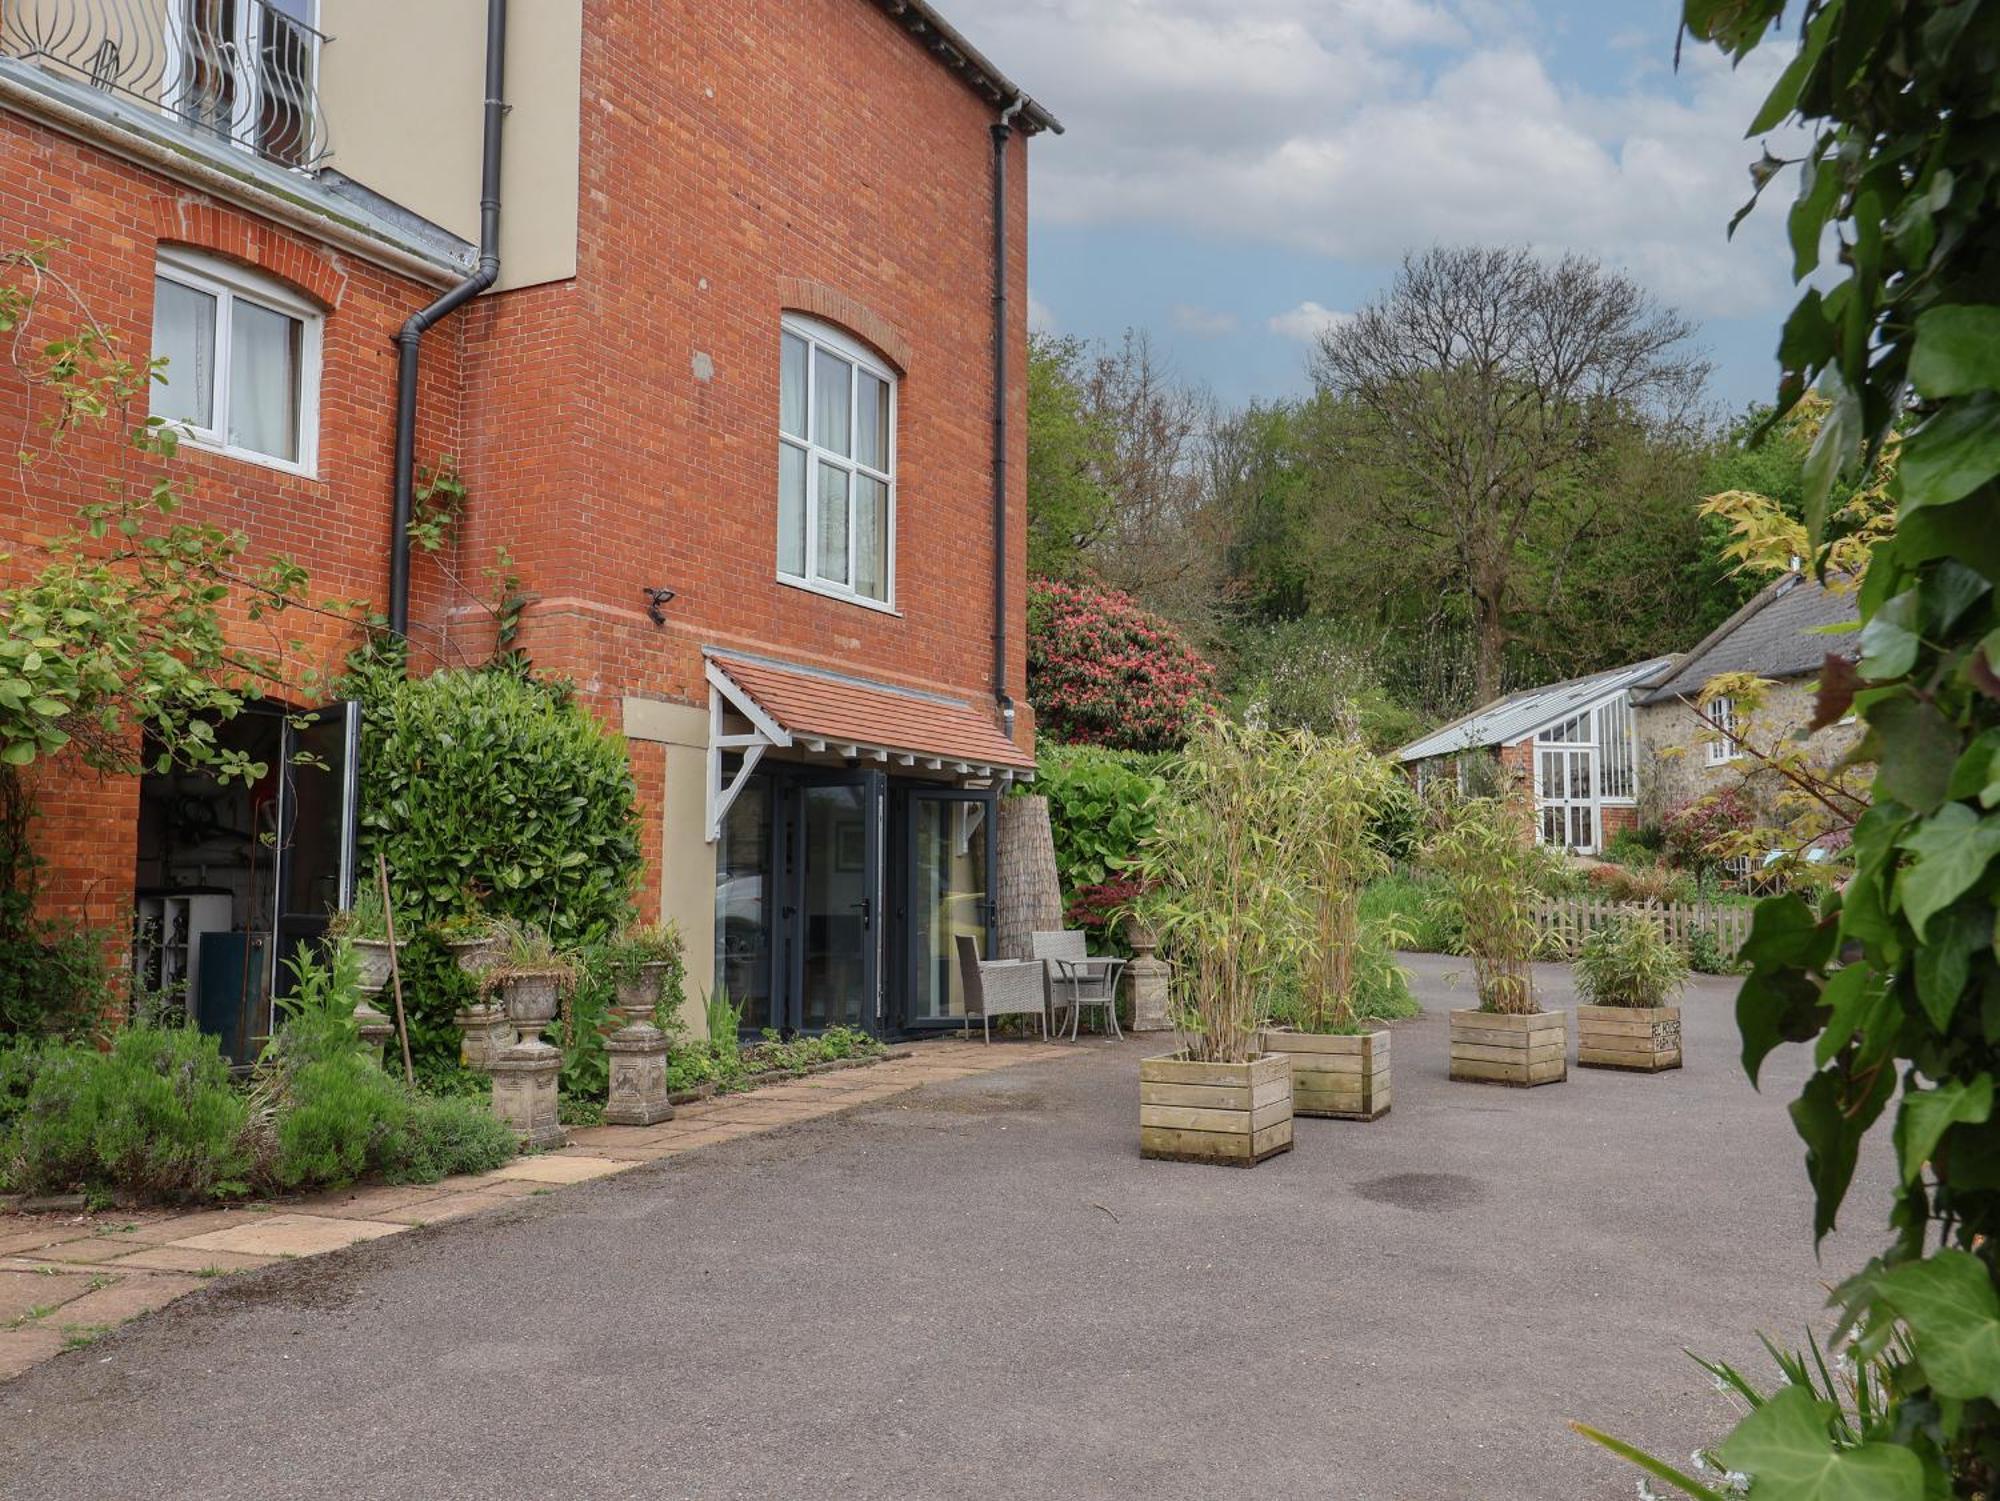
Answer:
M1030 152L1038 326L1146 328L1224 402L1284 396L1404 248L1532 244L1694 318L1720 406L1772 390L1788 184L1724 226L1780 48L1732 72L1690 46L1676 74L1678 0L942 8L1068 126Z

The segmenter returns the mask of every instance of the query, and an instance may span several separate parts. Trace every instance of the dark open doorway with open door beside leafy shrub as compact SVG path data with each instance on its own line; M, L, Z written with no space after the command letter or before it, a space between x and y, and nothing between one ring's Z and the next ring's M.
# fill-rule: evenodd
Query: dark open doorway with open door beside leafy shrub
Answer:
M216 742L264 767L218 781L200 769L140 779L132 873L132 987L182 1009L236 1063L270 1037L290 959L354 899L360 706L252 704Z

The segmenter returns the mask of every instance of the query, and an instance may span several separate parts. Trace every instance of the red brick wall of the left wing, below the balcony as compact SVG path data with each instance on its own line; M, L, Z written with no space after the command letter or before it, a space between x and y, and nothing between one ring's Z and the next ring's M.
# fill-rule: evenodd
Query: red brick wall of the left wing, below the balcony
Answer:
M318 474L286 474L192 446L182 448L176 468L194 492L190 518L242 530L252 558L286 554L300 562L312 574L314 600L384 598L394 394L388 338L434 290L0 114L0 246L30 240L66 242L50 252L50 268L136 358L152 340L160 244L254 266L326 310ZM76 326L78 314L50 288L36 330L54 338ZM434 454L458 442L456 338L446 332L426 356L420 452ZM0 372L0 430L22 432L46 412L46 398L38 406L30 400L12 370ZM12 456L0 462L0 552L12 554L0 574L32 570L36 540L66 530L78 506L108 498L108 482L140 478L142 470L126 464L110 430L82 434L60 466L24 472ZM284 646L288 666L306 672L338 662L354 634L342 620L288 612L282 626L246 626L242 638L262 650ZM292 640L300 642L296 650ZM44 909L116 921L132 893L136 781L58 765L36 777L36 843L48 863Z

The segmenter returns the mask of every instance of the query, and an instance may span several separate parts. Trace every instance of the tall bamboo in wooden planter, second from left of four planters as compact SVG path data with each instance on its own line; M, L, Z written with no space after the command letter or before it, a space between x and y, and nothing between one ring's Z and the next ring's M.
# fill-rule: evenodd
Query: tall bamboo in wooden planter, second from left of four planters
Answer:
M1366 744L1294 732L1278 773L1290 793L1292 893L1298 897L1302 997L1264 1031L1266 1053L1292 1059L1292 1113L1376 1121L1388 1113L1388 1031L1356 1015L1362 887L1388 873L1368 837L1394 769Z

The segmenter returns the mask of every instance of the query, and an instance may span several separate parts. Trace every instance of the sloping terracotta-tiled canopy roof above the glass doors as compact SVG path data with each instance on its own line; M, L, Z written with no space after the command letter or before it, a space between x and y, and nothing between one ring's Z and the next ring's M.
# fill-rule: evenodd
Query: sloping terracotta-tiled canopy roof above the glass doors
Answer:
M988 704L724 650L710 652L710 660L794 736L982 767L1034 767L1034 757L1000 732Z

